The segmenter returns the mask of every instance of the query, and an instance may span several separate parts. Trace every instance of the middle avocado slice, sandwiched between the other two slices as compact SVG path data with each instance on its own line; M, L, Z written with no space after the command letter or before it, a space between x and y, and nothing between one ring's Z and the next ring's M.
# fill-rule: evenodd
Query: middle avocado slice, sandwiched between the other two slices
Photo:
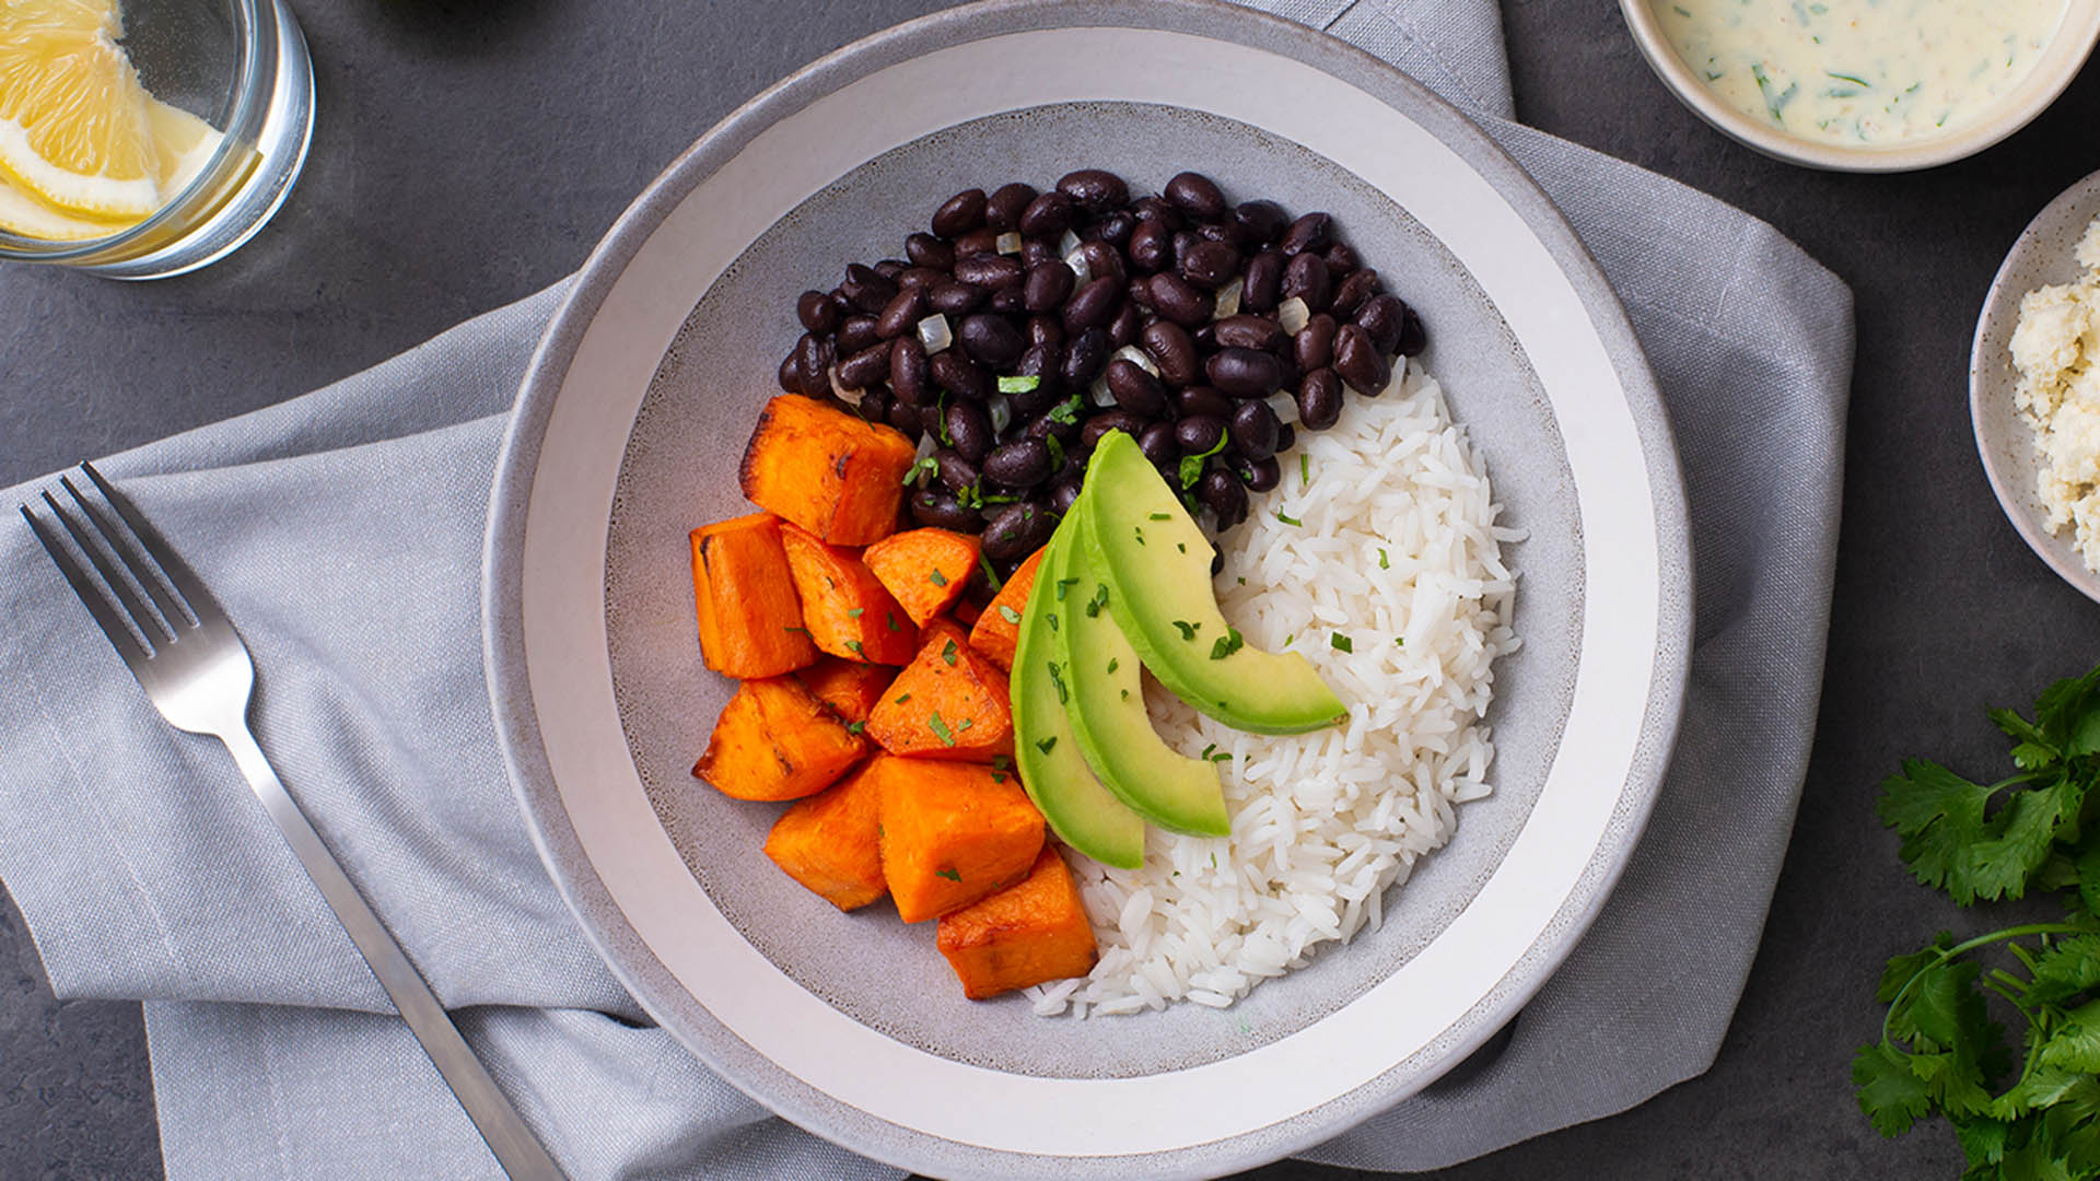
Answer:
M1082 492L1065 517L1075 538L1086 536L1098 509L1092 500L1092 492ZM1084 544L1067 546L1058 578L1069 586L1056 628L1071 687L1065 717L1088 765L1115 799L1144 820L1197 836L1226 836L1233 817L1224 813L1218 765L1180 754L1153 729L1138 681L1138 651L1115 622L1109 609L1115 593Z

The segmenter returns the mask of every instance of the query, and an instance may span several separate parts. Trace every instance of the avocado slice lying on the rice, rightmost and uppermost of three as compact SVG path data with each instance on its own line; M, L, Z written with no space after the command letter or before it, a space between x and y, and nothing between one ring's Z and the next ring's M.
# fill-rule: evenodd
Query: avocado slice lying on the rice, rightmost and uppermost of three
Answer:
M1342 721L1346 706L1296 651L1239 641L1210 586L1210 540L1189 519L1136 439L1102 435L1086 469L1094 513L1088 561L1109 586L1109 609L1159 683L1197 710L1252 733L1304 733Z

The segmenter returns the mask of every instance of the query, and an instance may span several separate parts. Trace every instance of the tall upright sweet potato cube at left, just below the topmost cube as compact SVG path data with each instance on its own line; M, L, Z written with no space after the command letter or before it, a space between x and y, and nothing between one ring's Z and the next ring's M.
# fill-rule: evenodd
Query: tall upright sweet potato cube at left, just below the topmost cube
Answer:
M699 656L724 677L779 677L817 660L773 513L693 530L693 605Z

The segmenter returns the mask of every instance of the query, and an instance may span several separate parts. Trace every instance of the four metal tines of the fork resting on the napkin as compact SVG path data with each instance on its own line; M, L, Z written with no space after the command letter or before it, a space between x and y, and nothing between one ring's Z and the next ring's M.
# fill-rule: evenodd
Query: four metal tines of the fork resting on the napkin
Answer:
M197 614L185 609L185 599L208 603L210 595L183 565L183 559L160 542L139 511L109 488L109 481L92 464L80 464L80 471L101 492L101 504L84 496L69 475L59 477L59 488L71 498L69 506L50 492L42 494L44 509L71 536L74 548L27 504L21 506L21 515L36 530L36 540L44 542L50 559L59 563L88 614L101 624L109 643L126 660L151 660L155 649L174 645L183 633L197 626ZM101 578L82 567L76 548L86 555L88 565ZM153 601L153 607L145 605L141 590Z

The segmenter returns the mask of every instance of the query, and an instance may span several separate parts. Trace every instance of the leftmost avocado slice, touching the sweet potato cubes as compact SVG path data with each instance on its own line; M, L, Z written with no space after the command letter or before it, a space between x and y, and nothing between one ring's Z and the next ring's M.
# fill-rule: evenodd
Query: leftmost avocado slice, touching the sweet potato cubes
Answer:
M1073 586L1065 582L1069 576L1063 555L1075 548L1075 540L1071 527L1060 527L1050 538L1021 614L1012 677L1014 767L1035 811L1044 813L1058 841L1105 866L1136 870L1144 864L1144 820L1100 786L1079 754L1079 740L1065 714L1071 679L1063 672L1065 656L1050 616L1063 620L1067 609L1058 601L1058 586Z

